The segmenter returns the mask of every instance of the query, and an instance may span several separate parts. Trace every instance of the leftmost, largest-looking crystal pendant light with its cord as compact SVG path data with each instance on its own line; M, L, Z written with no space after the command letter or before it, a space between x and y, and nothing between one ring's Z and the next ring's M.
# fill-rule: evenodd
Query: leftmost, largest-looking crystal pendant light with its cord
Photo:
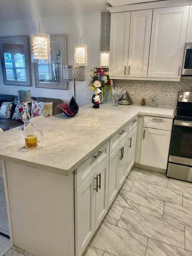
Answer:
M51 63L50 35L40 33L39 1L38 0L37 0L37 4L38 4L39 32L30 34L31 61Z

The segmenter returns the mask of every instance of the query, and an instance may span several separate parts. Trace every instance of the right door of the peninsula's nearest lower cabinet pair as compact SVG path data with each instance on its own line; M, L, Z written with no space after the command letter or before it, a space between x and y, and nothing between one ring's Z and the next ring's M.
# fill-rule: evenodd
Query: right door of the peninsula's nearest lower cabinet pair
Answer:
M98 192L95 194L95 230L108 210L109 158L96 170Z

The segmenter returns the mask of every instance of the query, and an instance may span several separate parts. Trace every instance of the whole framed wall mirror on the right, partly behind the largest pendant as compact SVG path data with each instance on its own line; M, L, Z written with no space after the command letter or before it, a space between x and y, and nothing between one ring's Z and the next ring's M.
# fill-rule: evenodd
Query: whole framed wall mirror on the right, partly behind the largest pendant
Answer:
M50 36L51 63L35 63L36 87L68 90L63 80L67 65L66 35Z

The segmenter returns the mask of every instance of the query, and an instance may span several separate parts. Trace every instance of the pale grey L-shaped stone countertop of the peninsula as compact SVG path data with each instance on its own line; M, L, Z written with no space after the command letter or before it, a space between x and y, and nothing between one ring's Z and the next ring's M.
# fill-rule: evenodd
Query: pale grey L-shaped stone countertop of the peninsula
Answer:
M174 118L174 109L111 103L100 104L99 109L82 106L73 118L59 114L39 120L44 140L37 148L25 147L24 132L18 127L1 132L0 160L68 176L139 114Z

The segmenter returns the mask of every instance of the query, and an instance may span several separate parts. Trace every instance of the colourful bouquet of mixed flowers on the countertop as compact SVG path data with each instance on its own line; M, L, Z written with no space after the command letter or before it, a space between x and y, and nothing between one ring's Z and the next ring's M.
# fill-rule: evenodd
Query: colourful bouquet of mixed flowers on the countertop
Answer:
M109 97L110 97L110 90L111 86L113 86L113 80L109 78L109 72L105 72L102 68L91 68L90 72L92 74L90 75L90 83L88 86L92 90L94 90L94 93L97 92L97 88L100 88L101 90L101 101L104 99L105 90L106 88L109 89Z

